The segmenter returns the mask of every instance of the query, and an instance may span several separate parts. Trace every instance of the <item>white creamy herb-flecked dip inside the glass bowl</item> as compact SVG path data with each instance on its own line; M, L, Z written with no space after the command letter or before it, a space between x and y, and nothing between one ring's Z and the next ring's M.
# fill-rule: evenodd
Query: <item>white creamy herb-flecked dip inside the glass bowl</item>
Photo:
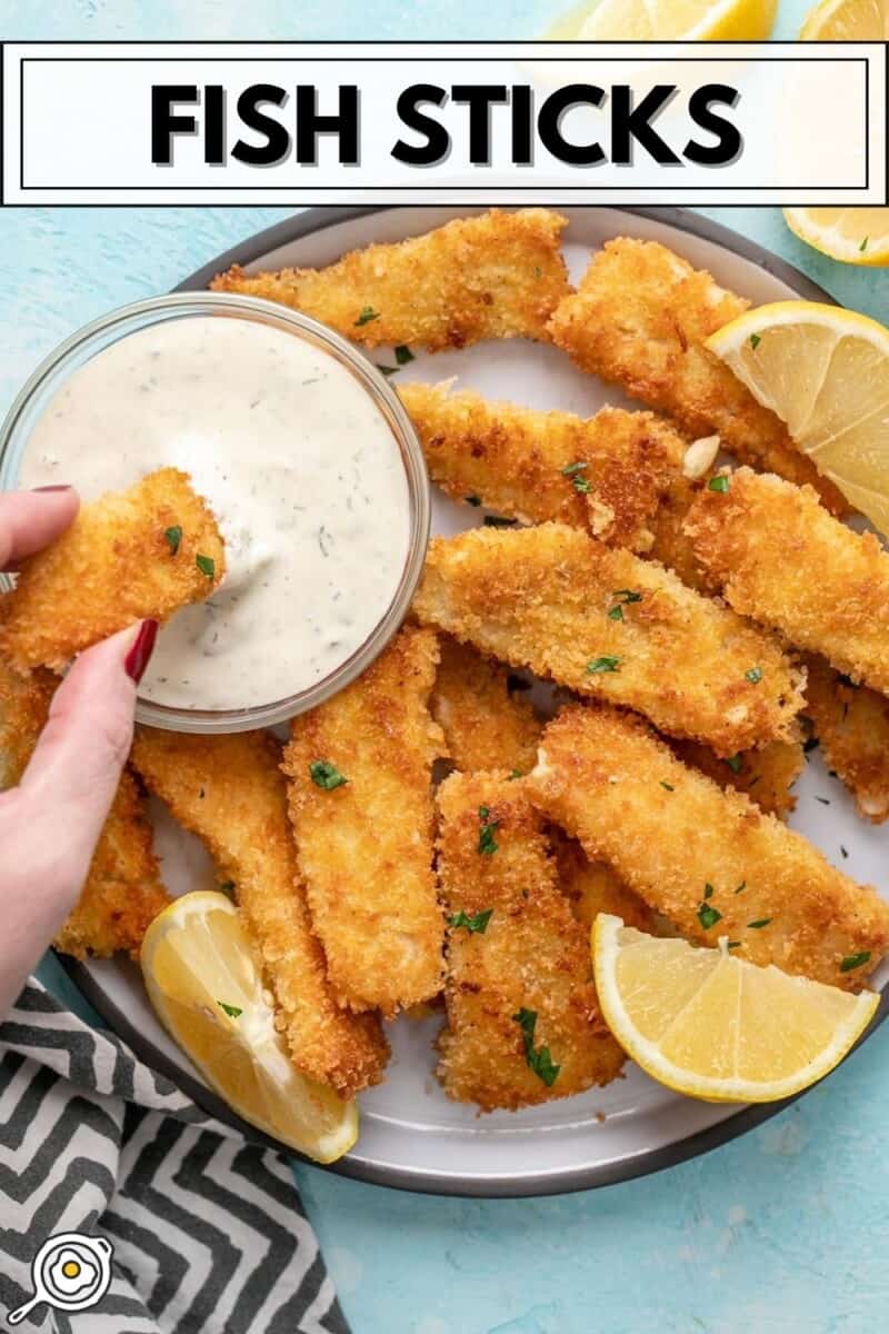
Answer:
M71 376L20 484L68 482L92 500L164 466L209 502L228 572L161 630L140 694L249 708L351 658L395 596L411 504L397 440L347 367L256 320L165 320Z

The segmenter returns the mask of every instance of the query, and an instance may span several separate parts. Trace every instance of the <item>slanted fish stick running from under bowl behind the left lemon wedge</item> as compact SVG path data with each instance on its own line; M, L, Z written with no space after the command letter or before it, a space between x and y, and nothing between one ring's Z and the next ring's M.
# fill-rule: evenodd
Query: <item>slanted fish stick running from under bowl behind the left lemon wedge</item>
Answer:
M311 926L287 818L281 748L267 732L139 730L133 762L235 884L297 1070L344 1098L379 1083L389 1049L376 1015L340 1010Z

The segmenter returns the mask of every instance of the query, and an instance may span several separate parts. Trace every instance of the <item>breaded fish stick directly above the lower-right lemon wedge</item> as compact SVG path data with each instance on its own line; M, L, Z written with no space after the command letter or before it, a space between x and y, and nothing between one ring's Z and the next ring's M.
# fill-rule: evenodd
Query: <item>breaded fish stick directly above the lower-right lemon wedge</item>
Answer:
M640 719L602 706L565 710L522 786L689 940L728 936L753 963L846 988L889 948L889 904L874 890L741 792L682 764Z

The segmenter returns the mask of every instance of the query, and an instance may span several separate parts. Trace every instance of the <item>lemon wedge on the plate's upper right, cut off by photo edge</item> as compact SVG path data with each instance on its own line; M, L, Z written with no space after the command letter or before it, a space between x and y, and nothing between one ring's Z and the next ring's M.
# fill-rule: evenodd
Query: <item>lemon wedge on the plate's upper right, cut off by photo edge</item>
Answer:
M706 347L889 534L889 329L840 305L776 301L725 324Z

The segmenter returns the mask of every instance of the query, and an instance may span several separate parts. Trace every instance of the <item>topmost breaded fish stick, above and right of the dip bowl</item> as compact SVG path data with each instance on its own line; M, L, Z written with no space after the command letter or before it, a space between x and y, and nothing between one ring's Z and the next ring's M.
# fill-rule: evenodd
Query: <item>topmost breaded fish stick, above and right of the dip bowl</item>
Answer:
M281 301L367 347L415 343L429 352L481 339L546 338L568 295L558 249L566 219L545 208L498 208L399 241L352 251L329 268L247 273L236 264L217 292Z

